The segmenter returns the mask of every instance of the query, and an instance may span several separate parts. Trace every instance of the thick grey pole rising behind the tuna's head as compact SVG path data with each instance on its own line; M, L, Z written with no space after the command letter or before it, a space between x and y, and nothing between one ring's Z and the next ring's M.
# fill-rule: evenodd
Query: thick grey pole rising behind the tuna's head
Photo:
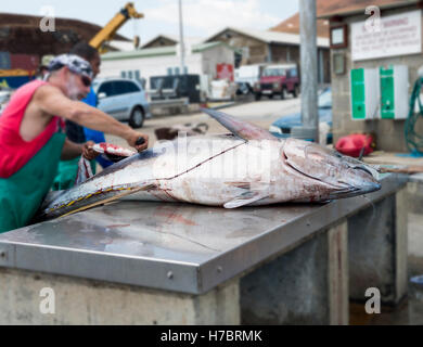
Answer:
M316 22L316 0L299 0L303 132L319 142Z

